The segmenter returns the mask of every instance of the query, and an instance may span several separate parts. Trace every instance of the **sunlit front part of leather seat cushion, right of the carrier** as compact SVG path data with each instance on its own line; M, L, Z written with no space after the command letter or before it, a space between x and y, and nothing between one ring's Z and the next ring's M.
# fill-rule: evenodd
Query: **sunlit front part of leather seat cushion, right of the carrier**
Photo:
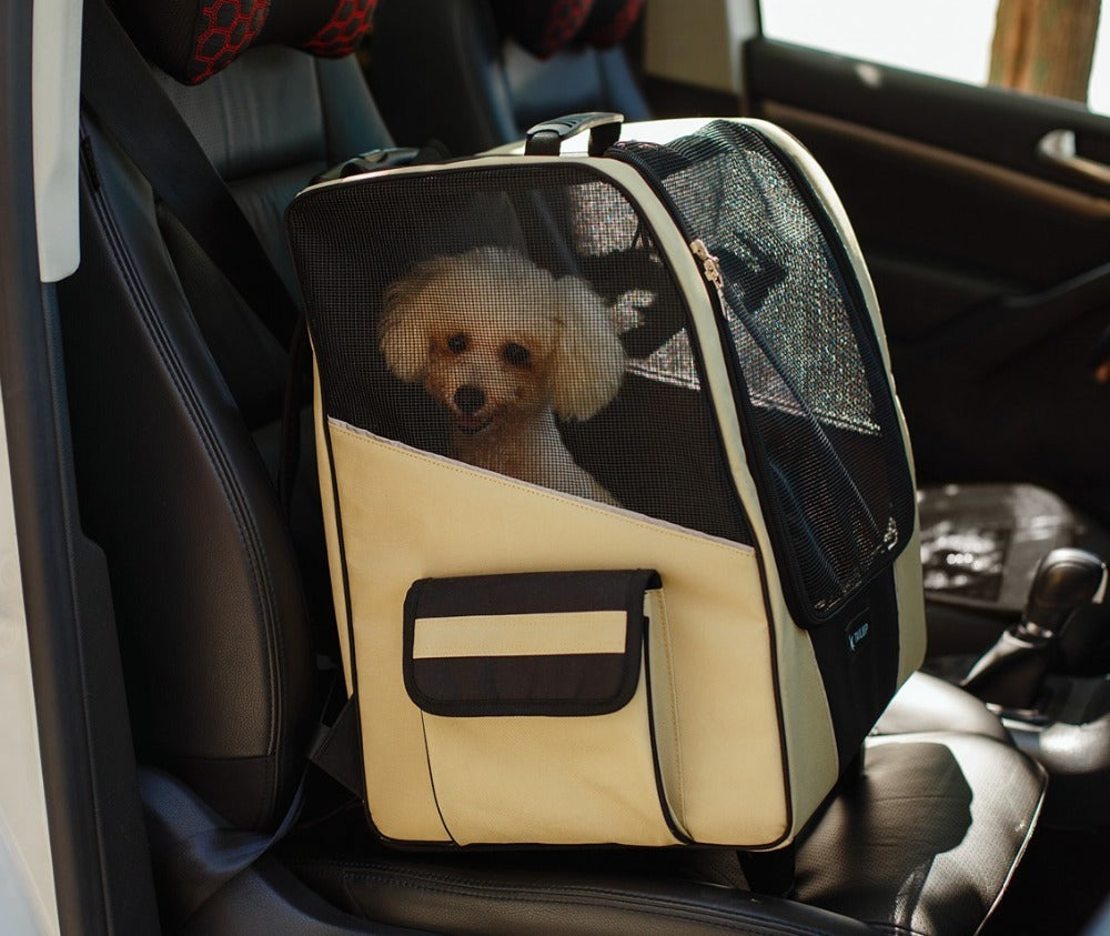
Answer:
M973 933L1025 853L1047 775L955 732L872 737L798 853L797 898L894 933Z

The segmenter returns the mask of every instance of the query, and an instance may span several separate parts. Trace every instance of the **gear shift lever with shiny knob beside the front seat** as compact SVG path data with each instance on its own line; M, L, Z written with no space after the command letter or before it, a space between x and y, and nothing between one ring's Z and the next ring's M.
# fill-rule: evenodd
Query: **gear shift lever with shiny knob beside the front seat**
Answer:
M1107 566L1084 550L1059 548L1033 573L1021 623L1007 630L962 682L963 688L1007 708L1028 708L1037 698L1052 651L1071 615L1099 603L1107 592Z

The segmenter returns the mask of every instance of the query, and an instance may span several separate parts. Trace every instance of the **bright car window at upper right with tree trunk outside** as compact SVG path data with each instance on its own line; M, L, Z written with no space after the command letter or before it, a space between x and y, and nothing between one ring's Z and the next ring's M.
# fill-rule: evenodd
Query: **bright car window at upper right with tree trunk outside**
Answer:
M1086 99L1092 111L1110 113L1110 11L1099 0L760 0L760 12L770 39L972 84Z

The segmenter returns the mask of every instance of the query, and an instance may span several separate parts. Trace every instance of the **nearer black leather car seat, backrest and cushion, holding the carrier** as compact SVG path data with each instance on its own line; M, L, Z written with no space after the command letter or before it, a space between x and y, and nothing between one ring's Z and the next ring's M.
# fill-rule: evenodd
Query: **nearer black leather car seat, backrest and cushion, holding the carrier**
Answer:
M389 142L350 58L261 47L198 87L162 81L286 275L293 193ZM289 806L317 712L326 573L314 480L302 479L295 536L274 492L284 351L89 114L82 133L82 261L60 290L82 522L108 555L172 916L189 884L174 873L181 843L272 828ZM325 787L314 821L184 928L975 932L1025 848L1043 774L973 700L909 685L860 782L800 844L794 899L744 889L730 852L397 853ZM203 851L192 858L203 876Z

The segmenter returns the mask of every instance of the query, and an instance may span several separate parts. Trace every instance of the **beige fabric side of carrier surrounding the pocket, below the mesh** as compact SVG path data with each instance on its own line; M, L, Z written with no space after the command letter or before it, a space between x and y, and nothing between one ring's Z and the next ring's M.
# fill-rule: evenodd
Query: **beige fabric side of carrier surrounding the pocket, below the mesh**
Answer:
M402 682L401 620L410 583L627 567L654 567L663 576L690 836L759 845L784 835L773 664L750 548L533 487L336 421L330 434L343 503L355 657L374 672L374 678L360 683L367 797L385 835L445 837L442 829L432 834L438 819L426 778L421 713ZM514 516L528 522L505 522ZM813 661L811 648L808 657ZM819 685L816 662L811 675ZM809 696L799 698L809 702ZM796 701L790 701L793 707ZM795 738L827 747L830 725L826 733L798 728L823 717L824 700L817 712L791 715Z

